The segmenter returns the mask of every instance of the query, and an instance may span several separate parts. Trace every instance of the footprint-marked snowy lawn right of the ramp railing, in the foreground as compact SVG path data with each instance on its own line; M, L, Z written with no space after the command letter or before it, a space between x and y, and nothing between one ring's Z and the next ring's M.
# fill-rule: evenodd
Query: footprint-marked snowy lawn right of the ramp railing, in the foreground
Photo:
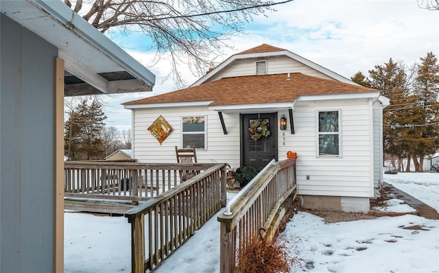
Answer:
M426 230L402 227L423 226ZM305 272L438 272L439 221L414 215L324 224L299 212L283 236Z

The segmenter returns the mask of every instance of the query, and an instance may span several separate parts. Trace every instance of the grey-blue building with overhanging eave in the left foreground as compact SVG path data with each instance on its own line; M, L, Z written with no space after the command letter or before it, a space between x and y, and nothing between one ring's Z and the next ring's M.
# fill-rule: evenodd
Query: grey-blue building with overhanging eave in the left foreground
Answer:
M0 1L0 272L64 272L64 95L155 76L63 1Z

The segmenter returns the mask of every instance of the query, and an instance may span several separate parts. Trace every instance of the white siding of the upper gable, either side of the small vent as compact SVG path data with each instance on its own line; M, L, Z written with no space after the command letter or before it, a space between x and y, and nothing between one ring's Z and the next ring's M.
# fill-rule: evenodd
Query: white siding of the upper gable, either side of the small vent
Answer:
M311 67L307 67L305 64L302 64L301 62L293 60L289 57L276 57L259 60L267 60L268 74L300 72L313 77L333 80L328 75L312 69ZM221 78L238 77L244 75L256 75L256 60L236 60L222 71L219 71L209 80L209 82Z

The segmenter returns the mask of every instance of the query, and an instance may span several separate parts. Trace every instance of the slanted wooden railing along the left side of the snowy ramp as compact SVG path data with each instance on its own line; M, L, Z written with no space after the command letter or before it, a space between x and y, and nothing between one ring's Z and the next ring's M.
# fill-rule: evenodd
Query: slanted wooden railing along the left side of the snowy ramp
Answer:
M226 204L226 165L215 164L125 212L131 223L131 272L154 270Z

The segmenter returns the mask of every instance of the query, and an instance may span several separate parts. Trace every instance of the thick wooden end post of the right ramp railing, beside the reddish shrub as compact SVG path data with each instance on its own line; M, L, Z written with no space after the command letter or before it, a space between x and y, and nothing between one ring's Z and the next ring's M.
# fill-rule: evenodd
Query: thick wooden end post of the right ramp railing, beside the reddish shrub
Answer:
M233 272L235 257L233 253L233 246L235 245L235 237L233 231L227 232L226 224L221 222L219 225L220 239L219 242L219 272L231 273Z

